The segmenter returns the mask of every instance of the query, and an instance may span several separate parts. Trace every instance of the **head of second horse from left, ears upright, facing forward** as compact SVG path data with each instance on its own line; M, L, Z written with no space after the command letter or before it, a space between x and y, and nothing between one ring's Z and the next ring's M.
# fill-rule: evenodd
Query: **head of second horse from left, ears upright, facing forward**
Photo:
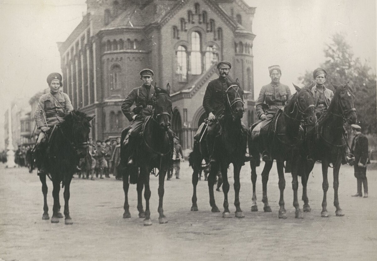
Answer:
M170 127L170 120L172 118L172 99L170 98L170 85L166 85L166 90L156 87L155 84L155 111L153 118L159 124L161 129L167 130Z

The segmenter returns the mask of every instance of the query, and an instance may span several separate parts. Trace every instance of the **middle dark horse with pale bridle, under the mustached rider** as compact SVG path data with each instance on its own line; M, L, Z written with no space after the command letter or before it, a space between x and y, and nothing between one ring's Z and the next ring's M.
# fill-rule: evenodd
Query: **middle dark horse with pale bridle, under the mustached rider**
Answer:
M224 192L224 212L222 213L223 218L230 218L229 204L228 204L228 192L229 192L229 182L228 182L228 166L230 163L233 164L234 169L234 206L236 206L235 216L238 218L243 218L244 214L240 208L239 203L239 189L241 187L239 181L239 173L241 171L242 165L244 165L244 154L245 147L242 138L242 126L241 118L244 115L244 91L239 85L238 79L235 83L232 83L226 90L226 103L224 118L218 119L218 124L220 124L220 135L216 137L214 153L216 158L216 164L211 166L210 173L208 175L208 189L210 194L210 206L212 207L212 212L220 212L215 203L215 197L213 195L213 186L216 181L216 174L220 168L222 173L222 190ZM201 149L202 148L202 149ZM194 143L193 151L189 155L189 162L193 168L192 174L192 184L193 184L193 196L192 196L192 207L191 211L198 211L198 206L196 204L196 185L198 184L200 170L202 169L203 158L208 158L208 152L206 149L205 141L196 140Z

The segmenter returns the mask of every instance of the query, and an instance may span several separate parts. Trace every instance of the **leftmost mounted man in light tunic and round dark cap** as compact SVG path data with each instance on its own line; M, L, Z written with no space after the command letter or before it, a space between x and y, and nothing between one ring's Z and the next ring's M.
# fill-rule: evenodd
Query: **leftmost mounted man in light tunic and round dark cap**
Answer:
M63 86L61 80L62 77L57 72L48 75L47 83L50 87L50 92L40 97L38 106L34 112L35 123L37 124L37 128L41 130L36 144L36 150L39 153L42 153L40 151L41 143L47 140L46 132L51 127L63 123L64 116L73 111L68 95L60 91L60 87ZM79 170L77 167L76 172ZM44 173L44 167L41 166L38 169L38 175Z

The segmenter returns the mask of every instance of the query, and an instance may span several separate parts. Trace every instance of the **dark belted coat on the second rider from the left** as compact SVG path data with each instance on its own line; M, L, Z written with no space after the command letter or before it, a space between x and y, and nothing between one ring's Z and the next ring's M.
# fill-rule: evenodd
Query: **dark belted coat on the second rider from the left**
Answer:
M129 121L132 121L135 112L131 110L133 103L136 107L140 106L140 111L136 112L137 115L141 117L150 116L153 114L152 108L154 104L155 88L151 85L149 90L144 87L144 85L133 88L132 91L127 95L127 97L122 102L122 112L127 117Z

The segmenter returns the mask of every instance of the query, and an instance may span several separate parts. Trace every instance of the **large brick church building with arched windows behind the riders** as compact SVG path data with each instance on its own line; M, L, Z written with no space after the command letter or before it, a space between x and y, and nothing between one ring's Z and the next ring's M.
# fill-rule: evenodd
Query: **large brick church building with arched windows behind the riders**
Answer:
M120 107L150 68L155 82L172 87L172 128L190 149L206 117L205 88L218 77L219 60L246 91L246 124L254 121L252 21L242 0L87 0L87 14L58 43L63 91L75 109L96 115L93 139L119 135L128 120Z

